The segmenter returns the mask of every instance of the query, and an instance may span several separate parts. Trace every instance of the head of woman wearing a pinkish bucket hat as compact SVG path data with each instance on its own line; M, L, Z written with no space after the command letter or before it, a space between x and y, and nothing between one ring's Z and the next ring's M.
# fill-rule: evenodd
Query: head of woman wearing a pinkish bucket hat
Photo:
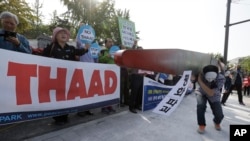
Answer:
M53 30L52 42L68 42L70 38L70 32L66 28L56 27Z

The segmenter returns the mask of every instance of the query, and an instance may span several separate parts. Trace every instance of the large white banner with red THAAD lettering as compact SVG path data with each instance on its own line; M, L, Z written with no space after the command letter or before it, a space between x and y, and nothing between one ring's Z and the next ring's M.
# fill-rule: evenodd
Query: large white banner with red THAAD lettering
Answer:
M32 119L19 114L15 120L11 113L84 105L88 109L119 102L120 67L116 65L67 61L3 49L0 49L0 60L0 124ZM44 114L36 118L46 117ZM56 114L61 113L52 115Z

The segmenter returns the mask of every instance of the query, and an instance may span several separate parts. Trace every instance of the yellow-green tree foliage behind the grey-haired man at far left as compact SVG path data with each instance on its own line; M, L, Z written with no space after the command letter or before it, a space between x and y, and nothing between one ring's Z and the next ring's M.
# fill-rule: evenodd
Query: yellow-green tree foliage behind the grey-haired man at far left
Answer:
M33 15L33 10L25 0L2 0L0 1L0 13L3 11L9 11L17 15L20 22L17 32L21 34L31 29L31 21L36 19L36 16Z

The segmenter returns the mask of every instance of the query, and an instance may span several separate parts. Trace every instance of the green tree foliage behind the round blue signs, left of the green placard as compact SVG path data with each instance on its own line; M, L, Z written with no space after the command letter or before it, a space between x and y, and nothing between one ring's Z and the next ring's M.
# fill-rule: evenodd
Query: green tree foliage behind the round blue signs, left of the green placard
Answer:
M75 31L79 25L89 24L96 32L96 39L100 42L110 37L116 44L120 44L120 35L118 27L118 17L129 20L129 11L116 10L114 0L61 0L67 6L67 17L71 21ZM75 33L76 33L75 32Z

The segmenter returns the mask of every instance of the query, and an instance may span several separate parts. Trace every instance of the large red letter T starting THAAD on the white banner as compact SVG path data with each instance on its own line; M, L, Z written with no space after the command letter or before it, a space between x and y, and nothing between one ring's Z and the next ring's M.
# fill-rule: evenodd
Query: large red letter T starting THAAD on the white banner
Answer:
M30 77L37 77L37 65L9 62L8 76L16 76L17 105L31 104Z

